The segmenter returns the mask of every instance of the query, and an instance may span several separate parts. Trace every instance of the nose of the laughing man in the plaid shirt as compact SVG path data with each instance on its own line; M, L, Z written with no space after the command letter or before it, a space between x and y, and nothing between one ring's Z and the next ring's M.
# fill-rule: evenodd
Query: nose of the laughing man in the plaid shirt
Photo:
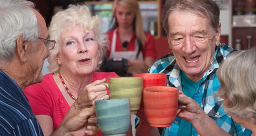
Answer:
M196 50L196 42L192 37L186 37L184 46L183 46L183 52L187 54L192 54Z

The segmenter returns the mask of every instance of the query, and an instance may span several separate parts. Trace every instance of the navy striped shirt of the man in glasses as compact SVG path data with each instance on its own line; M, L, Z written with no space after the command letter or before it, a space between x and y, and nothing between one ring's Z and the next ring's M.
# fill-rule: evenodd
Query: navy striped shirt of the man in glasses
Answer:
M43 136L27 98L0 70L0 136Z

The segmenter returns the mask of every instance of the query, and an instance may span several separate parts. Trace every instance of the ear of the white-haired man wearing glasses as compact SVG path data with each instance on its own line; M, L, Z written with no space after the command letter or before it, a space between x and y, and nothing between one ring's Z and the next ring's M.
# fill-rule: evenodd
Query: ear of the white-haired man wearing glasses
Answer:
M22 62L27 61L27 53L28 53L28 44L30 42L24 41L23 35L19 35L16 41L16 49L17 49L17 57L20 58ZM31 44L31 43L30 43Z

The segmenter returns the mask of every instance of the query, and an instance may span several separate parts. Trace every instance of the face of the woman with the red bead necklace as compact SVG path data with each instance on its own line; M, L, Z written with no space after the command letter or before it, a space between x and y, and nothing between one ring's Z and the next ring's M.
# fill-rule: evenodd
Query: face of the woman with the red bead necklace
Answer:
M59 38L56 60L60 68L75 75L93 74L99 64L100 48L92 30L67 26Z

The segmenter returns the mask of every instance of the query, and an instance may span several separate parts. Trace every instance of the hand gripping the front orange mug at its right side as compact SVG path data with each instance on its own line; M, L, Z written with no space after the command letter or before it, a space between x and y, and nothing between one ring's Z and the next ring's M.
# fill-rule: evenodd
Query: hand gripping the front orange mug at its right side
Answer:
M194 101L192 98L185 96L184 94L179 94L179 107L180 112L177 114L177 117L180 117L183 120L192 122L195 120L198 114L201 114L202 109L199 104Z

